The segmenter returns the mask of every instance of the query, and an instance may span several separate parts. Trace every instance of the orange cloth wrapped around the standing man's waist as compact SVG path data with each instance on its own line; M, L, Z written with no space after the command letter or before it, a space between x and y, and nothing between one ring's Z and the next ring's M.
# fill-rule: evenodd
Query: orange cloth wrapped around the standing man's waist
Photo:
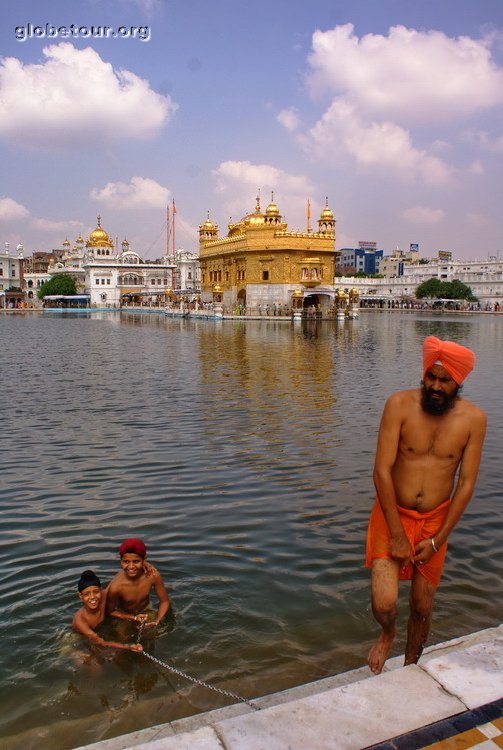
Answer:
M402 508L400 505L397 506L400 521L412 547L415 548L418 542L421 542L423 539L431 539L432 536L435 536L444 522L450 502L450 500L445 500L445 502L426 513L420 513L411 508ZM385 560L392 559L390 541L391 534L388 524L382 512L381 504L378 498L376 498L367 529L366 568L371 567L372 560L378 558ZM442 568L444 567L446 552L447 543L442 544L439 551L435 552L424 565L402 565L399 572L400 580L410 581L414 568L416 568L430 583L438 586L440 576L442 575Z

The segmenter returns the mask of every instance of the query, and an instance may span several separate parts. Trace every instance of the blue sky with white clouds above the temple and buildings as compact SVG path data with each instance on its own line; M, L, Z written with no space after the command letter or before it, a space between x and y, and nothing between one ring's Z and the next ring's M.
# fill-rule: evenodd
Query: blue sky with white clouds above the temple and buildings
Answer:
M503 0L16 0L0 243L198 252L271 200L336 247L503 256ZM105 30L108 27L108 31ZM171 247L173 236L169 239Z

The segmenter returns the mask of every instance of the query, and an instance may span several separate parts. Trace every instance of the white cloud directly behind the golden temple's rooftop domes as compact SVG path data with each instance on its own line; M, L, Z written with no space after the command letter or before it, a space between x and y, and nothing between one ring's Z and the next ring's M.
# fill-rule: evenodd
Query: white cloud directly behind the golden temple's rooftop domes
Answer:
M294 217L305 215L307 199L317 194L317 189L307 177L289 174L270 164L225 161L213 170L213 175L217 179L217 193L221 196L219 201L233 221L255 210L258 191L263 211L269 203L270 191L274 191L274 202L283 218L287 213ZM316 203L311 203L314 215Z

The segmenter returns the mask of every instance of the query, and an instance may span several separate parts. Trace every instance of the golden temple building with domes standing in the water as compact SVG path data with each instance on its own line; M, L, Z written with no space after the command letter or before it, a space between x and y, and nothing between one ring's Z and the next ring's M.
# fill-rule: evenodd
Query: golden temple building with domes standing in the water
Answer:
M274 195L264 212L255 211L228 225L220 237L208 218L199 226L203 302L248 313L284 312L299 306L323 312L334 302L335 219L328 200L312 231L292 232Z

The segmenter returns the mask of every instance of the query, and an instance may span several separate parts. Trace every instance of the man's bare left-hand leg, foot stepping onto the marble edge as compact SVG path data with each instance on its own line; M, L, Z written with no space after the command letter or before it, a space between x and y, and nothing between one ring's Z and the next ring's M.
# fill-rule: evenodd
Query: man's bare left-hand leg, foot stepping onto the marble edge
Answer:
M370 649L367 659L374 674L382 671L395 638L397 599L398 562L374 560L372 562L372 612L382 628L381 635Z

